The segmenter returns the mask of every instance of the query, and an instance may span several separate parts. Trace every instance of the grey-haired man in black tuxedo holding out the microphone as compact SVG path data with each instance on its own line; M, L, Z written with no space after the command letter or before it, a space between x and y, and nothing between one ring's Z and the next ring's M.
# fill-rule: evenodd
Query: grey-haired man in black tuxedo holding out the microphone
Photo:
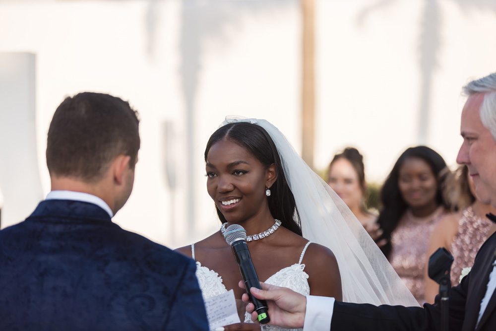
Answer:
M461 116L463 144L457 162L468 167L477 197L496 207L496 73L468 83ZM496 216L488 217L496 222ZM479 250L470 273L451 288L449 330L496 330L496 233ZM240 287L242 284L240 284ZM440 303L420 307L373 306L302 296L289 289L262 284L251 289L267 300L271 323L304 331L340 330L440 330ZM248 296L244 295L248 301ZM247 306L252 319L253 305ZM226 327L226 330L231 330Z

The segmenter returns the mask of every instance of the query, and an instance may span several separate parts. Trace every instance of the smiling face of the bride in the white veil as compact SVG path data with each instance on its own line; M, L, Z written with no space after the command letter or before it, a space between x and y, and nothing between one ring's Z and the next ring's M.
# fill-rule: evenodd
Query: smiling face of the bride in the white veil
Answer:
M264 169L244 147L229 140L213 144L205 168L208 194L228 222L246 221L268 210L265 188L271 167Z

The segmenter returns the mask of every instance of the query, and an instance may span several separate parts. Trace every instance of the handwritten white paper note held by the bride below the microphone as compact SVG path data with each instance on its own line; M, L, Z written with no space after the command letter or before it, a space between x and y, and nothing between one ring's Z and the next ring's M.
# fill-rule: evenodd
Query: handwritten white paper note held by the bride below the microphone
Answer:
M240 323L233 290L205 299L205 309L210 331L228 324Z

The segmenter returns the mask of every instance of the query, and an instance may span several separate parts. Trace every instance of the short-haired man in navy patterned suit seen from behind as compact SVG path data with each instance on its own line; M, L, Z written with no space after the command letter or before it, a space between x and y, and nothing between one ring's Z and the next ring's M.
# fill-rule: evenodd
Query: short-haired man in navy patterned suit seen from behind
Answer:
M192 260L111 218L131 194L137 113L108 94L56 110L52 191L0 231L0 330L208 330Z

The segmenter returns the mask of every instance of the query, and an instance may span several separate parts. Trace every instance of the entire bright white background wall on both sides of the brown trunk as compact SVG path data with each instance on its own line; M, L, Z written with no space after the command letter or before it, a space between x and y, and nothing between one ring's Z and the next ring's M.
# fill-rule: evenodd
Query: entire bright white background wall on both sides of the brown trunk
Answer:
M398 155L421 142L454 164L460 88L496 71L488 42L495 6L317 0L315 166L354 145L368 178L381 182ZM134 191L115 221L172 247L219 225L202 155L226 115L265 118L300 149L300 47L298 0L0 0L0 52L36 55L43 193L46 134L64 96L120 96L140 112L142 148ZM164 136L172 137L167 144Z

